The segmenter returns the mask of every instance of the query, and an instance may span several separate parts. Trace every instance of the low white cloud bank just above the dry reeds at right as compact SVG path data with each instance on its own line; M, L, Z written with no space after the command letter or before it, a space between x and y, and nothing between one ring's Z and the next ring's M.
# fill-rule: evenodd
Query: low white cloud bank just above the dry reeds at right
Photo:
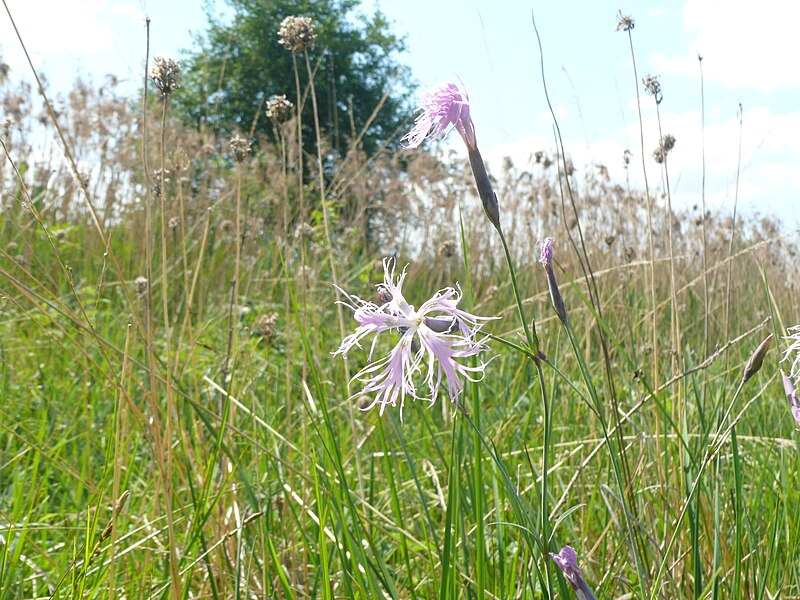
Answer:
M662 171L652 158L658 144L658 121L654 110L645 110L644 155L649 185L660 189ZM800 226L800 110L774 114L766 106L744 112L741 127L741 167L739 169L738 210L743 214L760 212L779 216L787 227ZM677 142L668 158L673 206L690 208L701 202L703 176L703 129L700 113L662 112L662 131ZM710 209L732 210L737 181L739 119L707 123L705 128L706 204ZM576 167L585 171L592 165L608 168L612 181L624 182L623 152L633 156L629 166L631 185L644 188L642 152L638 122L619 129L596 142L565 140L567 155ZM489 148L484 156L490 169L498 169L501 159L509 156L523 167L537 150L552 149L551 139L532 136L510 144Z

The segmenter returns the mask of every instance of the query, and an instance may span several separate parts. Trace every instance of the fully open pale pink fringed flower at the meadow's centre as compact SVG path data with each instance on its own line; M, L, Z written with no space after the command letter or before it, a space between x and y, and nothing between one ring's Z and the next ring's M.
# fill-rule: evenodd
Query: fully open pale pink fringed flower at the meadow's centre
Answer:
M478 339L485 317L478 317L457 308L461 301L460 289L448 287L436 292L419 309L403 297L403 281L406 271L395 281L393 259L383 261L383 283L378 285L378 298L381 302L362 300L339 291L347 298L342 302L351 308L358 323L355 333L342 340L334 355L343 356L370 334L375 334L369 360L375 351L378 337L386 331L396 331L400 340L383 358L370 362L353 376L364 388L353 394L353 398L375 394L372 402L359 407L369 410L380 406L380 414L387 405L396 406L400 402L400 418L403 418L403 405L406 397L423 399L417 393L415 376L424 375L427 386L427 400L432 406L439 395L444 381L451 402L459 408L458 399L464 389L462 377L479 381L483 377L486 362L477 366L464 365L459 360L477 356L486 346L486 338Z

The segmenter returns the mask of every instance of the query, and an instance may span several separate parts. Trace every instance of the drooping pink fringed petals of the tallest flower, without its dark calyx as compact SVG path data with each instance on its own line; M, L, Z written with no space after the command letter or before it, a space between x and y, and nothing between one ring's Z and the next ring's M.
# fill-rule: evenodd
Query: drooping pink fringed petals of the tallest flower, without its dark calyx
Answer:
M450 127L461 134L469 150L477 148L469 96L455 83L443 83L425 92L418 110L414 127L401 140L406 140L409 148L417 148L429 137L444 137Z

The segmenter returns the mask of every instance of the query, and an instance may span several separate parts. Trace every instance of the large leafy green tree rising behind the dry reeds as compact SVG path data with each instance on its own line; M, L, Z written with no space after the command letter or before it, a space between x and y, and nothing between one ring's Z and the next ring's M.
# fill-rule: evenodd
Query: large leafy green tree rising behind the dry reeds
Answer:
M371 153L393 139L409 118L408 69L399 64L404 41L390 30L386 18L358 10L360 0L227 0L232 18L216 23L198 36L197 47L183 58L185 76L175 107L185 122L210 127L228 135L238 129L272 135L264 114L264 102L273 94L285 94L295 105L292 52L278 41L278 30L287 16L310 17L316 44L309 50L320 126L333 147L344 152L352 129L367 125L370 116L389 92L377 117L369 124L362 144ZM308 84L305 58L297 55L301 93ZM309 99L303 123L313 124ZM312 135L305 135L307 143Z

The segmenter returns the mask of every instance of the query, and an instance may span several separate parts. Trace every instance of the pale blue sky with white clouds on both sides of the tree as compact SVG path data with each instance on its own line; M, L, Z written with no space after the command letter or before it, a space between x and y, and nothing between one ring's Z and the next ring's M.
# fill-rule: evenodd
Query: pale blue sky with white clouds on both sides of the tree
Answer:
M601 163L624 178L622 153L634 153L631 178L641 183L639 125L627 34L616 31L618 10L634 17L639 78L659 75L662 128L677 144L670 155L676 201L699 202L702 171L700 79L705 73L707 199L733 206L743 107L739 207L779 214L800 226L800 4L765 0L662 0L658 3L582 0L364 0L407 36L409 64L425 86L460 77L471 101L478 141L489 166L504 155L522 165L552 148L552 122L531 24L542 36L548 89L567 153L579 168ZM219 12L221 3L212 3ZM29 51L54 87L76 74L101 81L113 72L135 89L144 56L144 15L151 18L151 56L178 56L202 31L195 0L9 0ZM46 14L47 18L42 19ZM4 60L20 76L16 39L0 15ZM658 139L652 98L643 97L648 176ZM454 144L457 147L457 144Z

